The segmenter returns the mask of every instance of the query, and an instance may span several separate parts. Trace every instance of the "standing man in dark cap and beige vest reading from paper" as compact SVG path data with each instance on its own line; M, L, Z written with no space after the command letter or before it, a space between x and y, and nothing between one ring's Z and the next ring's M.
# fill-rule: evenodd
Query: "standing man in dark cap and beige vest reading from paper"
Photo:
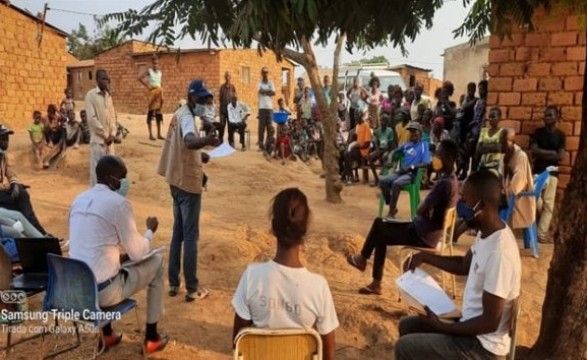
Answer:
M197 260L200 208L204 172L202 163L209 157L200 151L205 146L216 146L216 132L200 137L194 117L204 111L203 102L212 94L200 79L188 87L188 100L173 114L167 139L161 153L158 174L165 177L173 198L173 235L169 247L169 296L179 293L180 264L183 260L183 276L187 302L208 296L207 289L198 286ZM183 244L183 259L181 257Z

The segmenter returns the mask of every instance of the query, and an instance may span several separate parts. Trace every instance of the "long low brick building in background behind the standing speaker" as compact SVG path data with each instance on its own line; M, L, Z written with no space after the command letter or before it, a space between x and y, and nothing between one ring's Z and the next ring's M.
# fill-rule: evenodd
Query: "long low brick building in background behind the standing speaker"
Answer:
M165 96L164 112L173 112L180 99L184 99L189 82L202 78L207 87L218 96L224 82L224 73L232 74L239 100L252 109L257 109L257 84L261 68L269 68L269 77L277 88L274 97L289 99L293 90L294 65L283 60L278 62L273 53L259 56L252 49L188 49L163 50L151 44L130 40L115 48L98 54L94 58L94 70L108 71L112 85L112 96L117 111L146 114L147 89L139 83L137 76L150 66L151 56L156 53L163 71ZM88 72L84 70L84 72Z

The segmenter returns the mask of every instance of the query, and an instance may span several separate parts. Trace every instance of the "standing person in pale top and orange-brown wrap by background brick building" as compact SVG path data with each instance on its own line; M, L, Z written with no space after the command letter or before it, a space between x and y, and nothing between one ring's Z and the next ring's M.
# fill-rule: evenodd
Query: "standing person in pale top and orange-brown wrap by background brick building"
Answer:
M163 88L161 88L161 68L159 67L159 59L157 55L153 54L151 57L152 67L146 69L139 75L139 81L149 89L149 111L147 112L147 127L149 128L149 139L155 140L151 130L151 122L153 118L157 121L157 139L165 140L161 136L161 123L163 122Z

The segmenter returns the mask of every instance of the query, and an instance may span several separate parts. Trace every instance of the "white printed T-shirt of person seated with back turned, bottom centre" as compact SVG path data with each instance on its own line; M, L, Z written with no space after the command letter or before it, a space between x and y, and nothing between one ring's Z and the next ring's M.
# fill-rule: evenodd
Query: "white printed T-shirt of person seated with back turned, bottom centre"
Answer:
M259 328L316 328L326 335L339 325L326 279L274 261L247 267L232 306Z

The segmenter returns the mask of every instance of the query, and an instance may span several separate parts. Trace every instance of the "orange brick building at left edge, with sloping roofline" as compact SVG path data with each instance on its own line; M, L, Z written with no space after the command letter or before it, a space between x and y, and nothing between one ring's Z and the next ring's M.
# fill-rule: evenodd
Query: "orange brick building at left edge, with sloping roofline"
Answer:
M32 111L59 103L67 84L68 34L0 1L0 122L29 124Z

